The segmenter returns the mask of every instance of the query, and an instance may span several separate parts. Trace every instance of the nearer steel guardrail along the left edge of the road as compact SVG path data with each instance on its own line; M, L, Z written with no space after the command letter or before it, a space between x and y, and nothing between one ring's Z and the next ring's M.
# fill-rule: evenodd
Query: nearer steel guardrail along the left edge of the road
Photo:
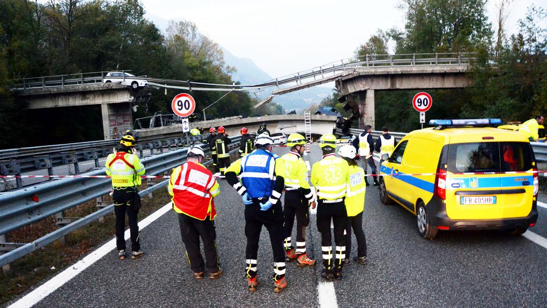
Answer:
M231 145L237 145L237 142L241 140L241 136L235 136L230 139L232 141ZM210 153L208 145L204 144L203 149L206 154ZM236 151L237 149L232 150L231 153ZM144 158L142 159L142 162L147 169L148 175L160 174L183 164L186 161L186 153L187 149L176 150ZM207 162L207 164L208 163L211 163L211 161ZM95 170L94 172L86 173L84 175L104 175L104 169ZM159 184L139 192L139 195L146 196L148 193L157 190L166 184L167 181L162 181ZM5 233L16 230L22 226L36 223L48 216L61 213L63 210L106 195L110 189L110 179L108 178L66 178L48 182L43 185L28 187L23 190L3 193L0 195L0 221L2 221L2 225L0 225L0 235L4 235ZM106 208L100 209L95 213L63 226L31 243L23 245L18 245L16 243L0 243L0 250L4 251L8 250L7 247L15 248L15 246L19 246L18 248L0 255L0 266L9 264L22 256L32 253L33 251L44 247L46 244L113 212L113 210L114 205L111 204Z

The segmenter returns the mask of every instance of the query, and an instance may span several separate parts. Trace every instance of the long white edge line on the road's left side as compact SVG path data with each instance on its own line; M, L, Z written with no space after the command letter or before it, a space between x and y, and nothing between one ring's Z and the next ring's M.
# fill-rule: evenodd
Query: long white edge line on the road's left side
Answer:
M161 207L159 210L156 210L156 212L150 214L150 216L148 216L147 218L143 219L141 222L138 223L139 230L144 229L144 227L148 226L154 220L160 218L161 215L167 213L168 210L170 210L171 208L172 208L171 202L169 202L165 206ZM129 238L130 238L130 233L128 229L125 231L125 239L127 240ZM39 303L40 300L44 299L49 294L53 293L56 289L63 286L63 284L67 283L69 280L74 278L80 272L87 269L90 265L94 264L97 260L100 260L107 253L112 252L112 250L114 249L116 249L115 237L113 239L110 239L110 241L108 241L103 246L97 248L97 250L95 250L94 252L85 256L84 259L68 267L68 269L58 273L55 277L51 278L49 281L42 284L42 286L39 286L38 288L34 289L31 293L28 293L27 295L23 296L21 299L11 304L8 308L31 307L33 305L36 305L37 303ZM146 256L144 256L144 258L146 258ZM131 260L126 260L124 262L127 262L127 261L131 262Z

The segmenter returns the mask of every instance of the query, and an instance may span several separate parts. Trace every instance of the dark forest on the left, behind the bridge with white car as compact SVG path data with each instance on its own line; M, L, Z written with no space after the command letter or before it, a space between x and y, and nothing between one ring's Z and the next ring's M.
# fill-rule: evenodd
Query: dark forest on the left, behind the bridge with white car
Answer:
M0 0L0 149L102 138L100 105L25 111L9 91L17 78L130 70L137 76L232 83L235 69L225 64L222 48L192 22L171 22L162 33L144 13L137 0ZM152 100L133 119L172 113L176 94L152 90ZM224 94L194 91L196 111ZM276 104L253 110L257 102L231 92L207 109L207 116L283 111Z

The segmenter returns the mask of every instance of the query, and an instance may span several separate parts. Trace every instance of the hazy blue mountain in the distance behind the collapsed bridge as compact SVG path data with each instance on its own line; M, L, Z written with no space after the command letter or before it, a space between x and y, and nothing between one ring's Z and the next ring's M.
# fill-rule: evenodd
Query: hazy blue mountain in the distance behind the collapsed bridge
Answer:
M237 70L232 74L234 81L238 81L241 84L258 84L274 79L265 71L261 70L260 67L253 62L253 60L248 58L238 58L225 48L222 48L222 50L224 52L224 61L226 62L226 65L233 66ZM276 87L261 89L258 98L267 98L275 89ZM331 93L331 88L317 86L283 95L276 95L274 96L273 101L280 104L287 112L291 110L299 111L306 109L311 104L319 104L323 98L329 96Z

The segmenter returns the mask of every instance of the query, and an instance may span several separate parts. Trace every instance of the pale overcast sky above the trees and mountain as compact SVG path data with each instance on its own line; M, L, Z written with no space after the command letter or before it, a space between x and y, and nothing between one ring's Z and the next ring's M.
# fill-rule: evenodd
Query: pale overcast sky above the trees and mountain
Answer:
M203 35L237 57L252 59L272 77L349 58L376 29L404 26L398 0L142 2L147 17L158 26L171 19L193 21ZM488 2L492 23L498 2ZM517 30L517 20L532 3L547 7L547 0L514 1L507 21L509 32Z

